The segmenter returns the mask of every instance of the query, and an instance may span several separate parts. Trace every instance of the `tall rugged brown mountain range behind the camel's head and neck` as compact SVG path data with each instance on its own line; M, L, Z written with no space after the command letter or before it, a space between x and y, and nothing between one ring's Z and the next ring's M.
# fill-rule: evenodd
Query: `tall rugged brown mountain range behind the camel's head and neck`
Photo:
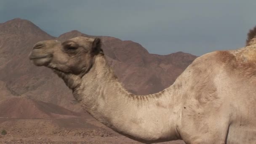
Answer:
M82 108L74 101L63 81L51 70L35 67L28 60L32 45L36 42L67 40L76 36L93 37L78 31L52 37L32 22L22 19L0 24L0 81L5 83L2 85L5 86L2 88L5 97L27 97L80 112ZM125 87L136 94L163 90L196 58L182 52L165 56L150 54L139 43L115 37L100 37L110 66Z

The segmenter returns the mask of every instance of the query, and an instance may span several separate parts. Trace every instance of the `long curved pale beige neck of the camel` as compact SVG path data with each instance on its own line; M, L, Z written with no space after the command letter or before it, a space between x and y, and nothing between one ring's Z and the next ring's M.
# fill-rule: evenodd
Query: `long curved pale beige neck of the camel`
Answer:
M147 96L133 95L118 82L106 59L99 56L74 96L88 113L113 130L138 141L160 142L179 139L175 124L179 109L171 99L171 89Z

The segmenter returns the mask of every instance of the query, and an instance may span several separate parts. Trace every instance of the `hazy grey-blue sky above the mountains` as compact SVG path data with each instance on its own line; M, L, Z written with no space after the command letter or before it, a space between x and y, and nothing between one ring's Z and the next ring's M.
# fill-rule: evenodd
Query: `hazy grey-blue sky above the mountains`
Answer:
M256 0L0 0L0 23L18 17L56 37L76 29L200 56L243 47Z

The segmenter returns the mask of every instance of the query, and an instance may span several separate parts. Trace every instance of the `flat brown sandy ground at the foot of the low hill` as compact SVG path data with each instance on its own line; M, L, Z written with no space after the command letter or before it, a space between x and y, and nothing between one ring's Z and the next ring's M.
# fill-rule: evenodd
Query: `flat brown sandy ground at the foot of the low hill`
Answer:
M0 118L0 144L140 144L115 133L93 118ZM161 144L184 144L172 141Z

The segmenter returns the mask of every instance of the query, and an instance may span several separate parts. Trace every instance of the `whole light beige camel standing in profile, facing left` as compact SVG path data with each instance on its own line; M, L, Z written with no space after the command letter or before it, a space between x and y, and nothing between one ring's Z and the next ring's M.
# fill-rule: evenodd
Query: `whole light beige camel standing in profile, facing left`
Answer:
M134 95L107 64L100 38L36 43L29 59L53 70L85 111L142 143L256 144L256 27L246 46L198 57L168 88Z

